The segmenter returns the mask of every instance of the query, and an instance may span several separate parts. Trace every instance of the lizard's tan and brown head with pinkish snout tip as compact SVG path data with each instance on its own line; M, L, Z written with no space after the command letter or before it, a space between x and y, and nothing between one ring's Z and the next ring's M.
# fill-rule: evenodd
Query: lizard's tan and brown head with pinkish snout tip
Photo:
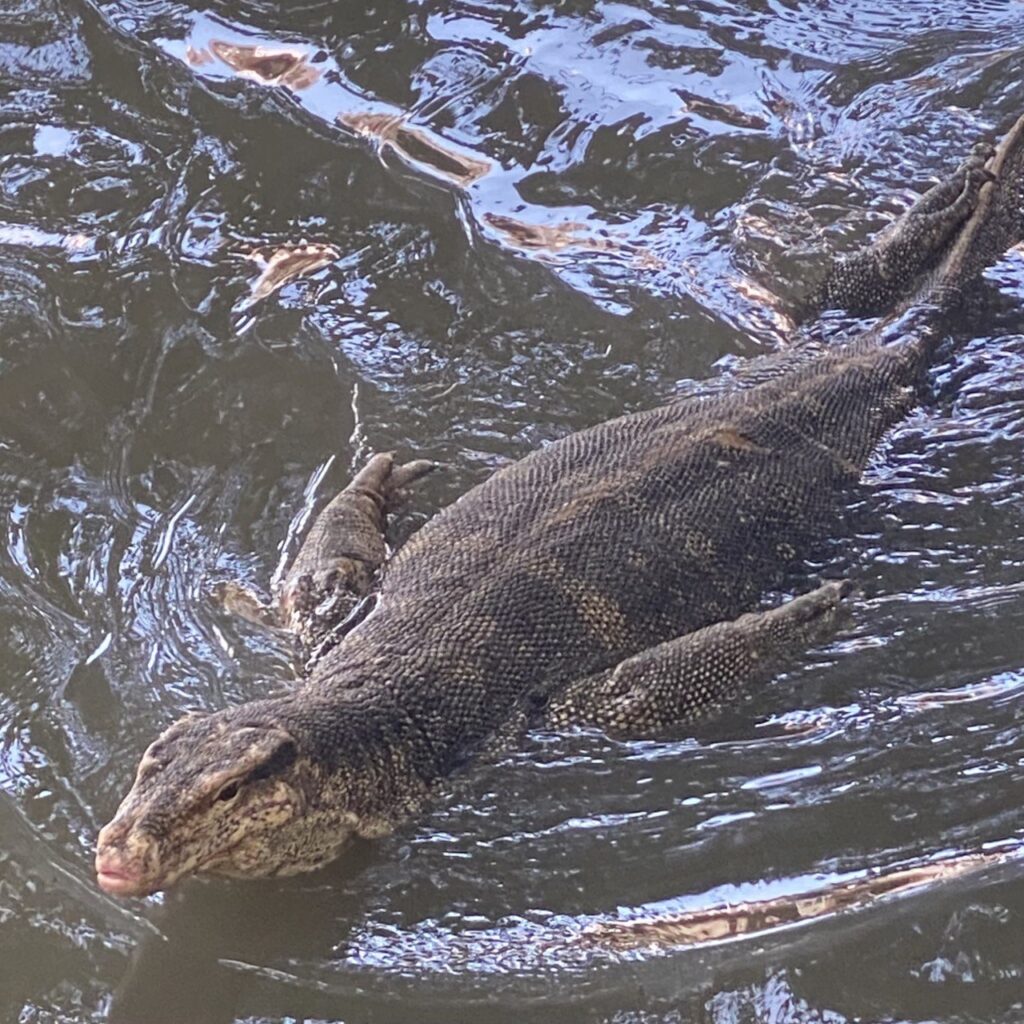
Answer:
M99 833L100 888L145 896L194 873L259 878L331 860L354 815L321 806L324 773L279 712L262 700L189 714L152 743Z

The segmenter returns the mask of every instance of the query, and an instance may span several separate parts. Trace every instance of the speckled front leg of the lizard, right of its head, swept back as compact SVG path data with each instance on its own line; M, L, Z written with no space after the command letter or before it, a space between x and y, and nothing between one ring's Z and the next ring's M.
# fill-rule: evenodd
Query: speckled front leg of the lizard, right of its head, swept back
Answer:
M649 733L693 721L774 676L835 623L851 591L827 583L768 611L754 611L669 640L594 676L549 703L554 727L593 725Z

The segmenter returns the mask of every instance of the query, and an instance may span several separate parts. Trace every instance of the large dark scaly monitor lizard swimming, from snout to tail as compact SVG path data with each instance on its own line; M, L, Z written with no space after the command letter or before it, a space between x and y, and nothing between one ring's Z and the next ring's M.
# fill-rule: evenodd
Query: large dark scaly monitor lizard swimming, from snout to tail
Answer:
M934 319L956 301L1021 238L1022 134L987 161L976 152L867 256L840 261L828 304L930 305ZM918 400L936 334L900 324L496 473L384 567L373 611L297 690L179 722L150 748L100 833L100 885L140 895L193 872L304 870L352 834L386 831L496 736L545 715L664 728L764 677L842 597L826 584L758 610ZM333 629L339 582L352 596L373 582L396 472L384 468L329 506L297 560L293 578L327 598L286 587L309 642Z

